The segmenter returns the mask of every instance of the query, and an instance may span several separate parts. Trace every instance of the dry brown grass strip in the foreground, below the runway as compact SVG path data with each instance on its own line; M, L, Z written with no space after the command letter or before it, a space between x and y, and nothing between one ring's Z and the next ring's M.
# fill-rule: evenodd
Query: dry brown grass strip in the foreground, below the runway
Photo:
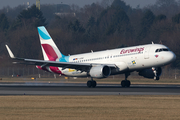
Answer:
M180 96L0 96L1 120L179 120Z

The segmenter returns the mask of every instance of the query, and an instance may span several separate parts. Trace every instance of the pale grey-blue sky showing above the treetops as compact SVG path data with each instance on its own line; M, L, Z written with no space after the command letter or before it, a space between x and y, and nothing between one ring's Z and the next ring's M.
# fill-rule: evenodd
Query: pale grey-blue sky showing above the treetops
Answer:
M92 4L93 2L101 2L102 0L40 0L41 4L59 4L61 2L65 4L77 4L80 7L85 4ZM156 0L124 0L128 5L132 7L136 7L140 5L140 7L144 7L148 4L154 4ZM30 5L35 4L36 0L1 0L0 9L4 6L16 7L18 5L22 5L23 3L30 2Z

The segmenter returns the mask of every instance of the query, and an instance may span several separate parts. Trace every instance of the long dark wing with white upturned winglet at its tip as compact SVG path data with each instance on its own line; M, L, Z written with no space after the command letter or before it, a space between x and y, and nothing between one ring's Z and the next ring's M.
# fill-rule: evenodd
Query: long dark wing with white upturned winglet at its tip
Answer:
M37 65L41 66L41 68L46 66L54 66L54 67L62 67L62 69L71 68L81 71L89 71L89 69L93 66L98 65L107 65L111 69L117 68L115 64L95 64L95 63L74 63L74 62L57 62L57 61L46 61L46 60L35 60L35 59L25 59L25 58L18 58L15 57L10 48L6 45L7 51L10 57L14 60L18 60L21 62L16 62L19 64L26 64L26 65Z

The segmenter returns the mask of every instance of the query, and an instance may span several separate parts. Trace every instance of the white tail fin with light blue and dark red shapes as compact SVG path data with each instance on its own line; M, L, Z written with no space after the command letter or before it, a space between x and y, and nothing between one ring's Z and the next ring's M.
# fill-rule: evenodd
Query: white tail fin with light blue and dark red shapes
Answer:
M63 55L57 48L46 28L44 26L38 27L38 33L44 60L56 61L58 60L57 58L61 58Z

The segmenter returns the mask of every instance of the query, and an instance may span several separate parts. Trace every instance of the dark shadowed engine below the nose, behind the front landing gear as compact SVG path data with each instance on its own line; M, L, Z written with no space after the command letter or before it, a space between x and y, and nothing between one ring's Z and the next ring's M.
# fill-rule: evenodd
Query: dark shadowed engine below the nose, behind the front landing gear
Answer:
M162 73L162 69L160 67L158 67L158 68L155 68L155 69L153 69L153 68L144 69L144 70L139 72L139 75L143 76L145 78L154 79L156 77L159 78L161 76L161 73Z

